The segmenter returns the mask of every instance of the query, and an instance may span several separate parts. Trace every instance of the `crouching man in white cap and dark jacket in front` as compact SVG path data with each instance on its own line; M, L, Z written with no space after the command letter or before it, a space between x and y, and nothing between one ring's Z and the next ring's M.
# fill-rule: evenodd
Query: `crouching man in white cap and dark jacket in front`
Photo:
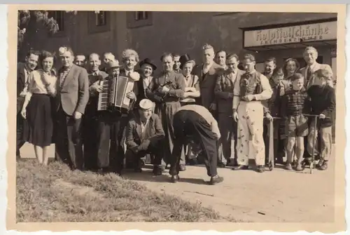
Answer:
M153 154L154 168L162 163L162 140L165 137L162 121L157 114L153 114L154 103L144 99L139 102L139 112L127 125L126 155L132 159L134 170L141 172L141 159L146 154ZM155 173L155 170L153 170Z

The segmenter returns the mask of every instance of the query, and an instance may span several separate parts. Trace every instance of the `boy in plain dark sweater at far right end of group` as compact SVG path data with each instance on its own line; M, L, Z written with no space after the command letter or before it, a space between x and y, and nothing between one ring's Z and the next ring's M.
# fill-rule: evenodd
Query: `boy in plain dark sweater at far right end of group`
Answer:
M326 170L328 168L328 159L332 154L332 126L335 121L335 90L327 83L330 76L328 70L318 69L314 72L314 85L307 90L311 98L311 114L318 115L319 121L314 129L314 119L311 121L309 136L307 138L307 152L312 156L312 149L315 148L315 154L320 154L317 168ZM318 147L318 133L321 139L321 146ZM314 138L316 145L313 146Z

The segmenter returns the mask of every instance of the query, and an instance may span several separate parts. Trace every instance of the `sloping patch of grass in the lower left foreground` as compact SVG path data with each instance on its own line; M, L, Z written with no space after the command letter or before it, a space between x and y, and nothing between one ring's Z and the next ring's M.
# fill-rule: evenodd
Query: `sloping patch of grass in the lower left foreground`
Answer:
M200 203L152 192L111 173L72 172L62 163L17 163L18 222L235 222Z

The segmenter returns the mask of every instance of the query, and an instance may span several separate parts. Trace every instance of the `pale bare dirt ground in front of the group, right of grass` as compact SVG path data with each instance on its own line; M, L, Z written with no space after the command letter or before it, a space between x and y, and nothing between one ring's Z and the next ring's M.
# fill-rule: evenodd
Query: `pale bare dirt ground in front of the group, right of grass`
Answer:
M53 145L50 148L53 156ZM23 157L34 157L30 145L21 149ZM189 201L201 201L202 206L214 208L221 215L232 215L241 222L333 222L335 202L335 164L328 170L309 168L304 172L283 168L265 173L253 170L233 171L218 168L225 180L208 185L204 166L187 166L181 180L169 182L169 174L154 177L151 166L143 173L125 173L125 177L145 184L149 189L181 196ZM205 181L204 181L205 180Z

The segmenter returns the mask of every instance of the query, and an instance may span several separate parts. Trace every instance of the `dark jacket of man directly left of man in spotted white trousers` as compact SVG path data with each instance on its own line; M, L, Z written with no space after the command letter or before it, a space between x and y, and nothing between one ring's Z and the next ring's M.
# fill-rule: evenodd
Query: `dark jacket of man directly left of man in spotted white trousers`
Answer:
M232 79L230 72L226 70L223 74L218 76L215 86L215 96L218 102L218 113L232 114L232 101L233 98L229 98L229 93L233 93L235 82L239 81L242 74L245 72L241 69L237 70L236 76Z

